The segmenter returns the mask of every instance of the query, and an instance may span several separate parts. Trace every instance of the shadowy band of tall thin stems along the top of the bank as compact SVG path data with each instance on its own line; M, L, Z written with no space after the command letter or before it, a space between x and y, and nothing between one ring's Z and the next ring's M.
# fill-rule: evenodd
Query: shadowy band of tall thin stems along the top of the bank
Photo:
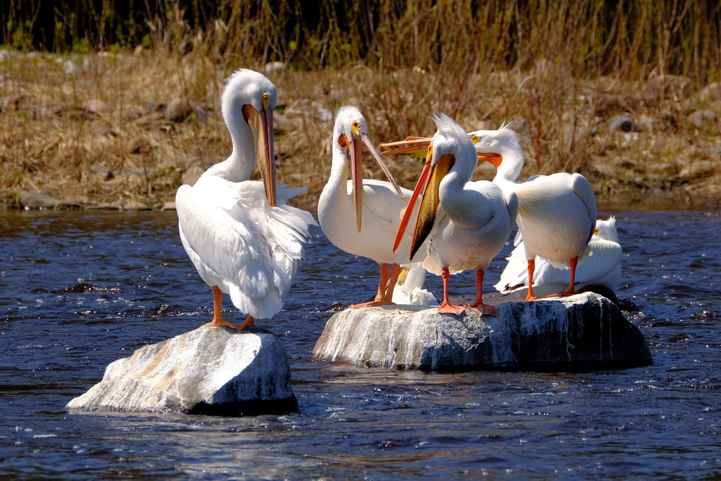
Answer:
M721 3L711 0L9 0L2 42L56 53L144 45L297 69L363 62L381 69L528 68L573 76L719 69Z

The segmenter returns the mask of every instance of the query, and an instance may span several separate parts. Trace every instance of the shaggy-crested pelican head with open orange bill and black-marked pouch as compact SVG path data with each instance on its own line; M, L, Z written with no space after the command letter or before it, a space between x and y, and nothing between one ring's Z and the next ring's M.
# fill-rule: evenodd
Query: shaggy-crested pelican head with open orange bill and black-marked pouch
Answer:
M415 206L417 198L422 195L423 200L420 201L418 207L413 231L410 258L415 255L433 229L438 203L441 202L439 189L443 177L446 177L451 169L454 169L454 172L458 172L459 180L465 184L471 179L473 169L477 164L473 144L461 126L448 115L441 113L433 115L432 119L438 130L428 145L425 167L423 167L423 172L420 174L413 195L403 213L393 246L395 252L407 229L413 206Z

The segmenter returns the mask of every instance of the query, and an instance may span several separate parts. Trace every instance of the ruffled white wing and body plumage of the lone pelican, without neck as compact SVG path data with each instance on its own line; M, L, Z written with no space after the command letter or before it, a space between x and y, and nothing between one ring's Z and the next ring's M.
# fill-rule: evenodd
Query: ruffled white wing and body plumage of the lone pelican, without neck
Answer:
M285 203L271 208L262 182L199 184L182 186L176 196L190 259L205 282L229 292L239 310L272 317L303 258L312 217ZM278 198L293 194L278 190Z

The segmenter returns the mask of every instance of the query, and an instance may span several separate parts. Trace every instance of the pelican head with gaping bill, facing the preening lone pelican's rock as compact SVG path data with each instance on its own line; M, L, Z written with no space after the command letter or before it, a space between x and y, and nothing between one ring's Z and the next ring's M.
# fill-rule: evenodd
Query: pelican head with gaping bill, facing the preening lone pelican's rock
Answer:
M398 195L403 200L405 200L405 196L370 138L368 138L368 124L356 107L350 105L340 107L340 110L335 115L333 141L342 149L348 148L348 151L350 151L350 172L353 177L353 211L355 212L355 226L360 232L363 221L363 156L361 154L363 145L371 151L373 159L376 159L376 162L381 166Z

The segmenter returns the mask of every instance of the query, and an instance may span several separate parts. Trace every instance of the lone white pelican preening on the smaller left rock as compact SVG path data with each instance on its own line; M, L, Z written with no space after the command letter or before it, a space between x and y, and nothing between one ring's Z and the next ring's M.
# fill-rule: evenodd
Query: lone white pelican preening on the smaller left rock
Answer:
M313 217L288 206L298 189L275 186L273 107L275 86L255 71L231 75L221 97L223 119L233 142L224 162L175 196L180 239L203 281L213 291L213 320L205 326L243 329L253 318L273 317L283 306ZM263 182L248 180L258 157ZM221 318L223 293L247 319Z

